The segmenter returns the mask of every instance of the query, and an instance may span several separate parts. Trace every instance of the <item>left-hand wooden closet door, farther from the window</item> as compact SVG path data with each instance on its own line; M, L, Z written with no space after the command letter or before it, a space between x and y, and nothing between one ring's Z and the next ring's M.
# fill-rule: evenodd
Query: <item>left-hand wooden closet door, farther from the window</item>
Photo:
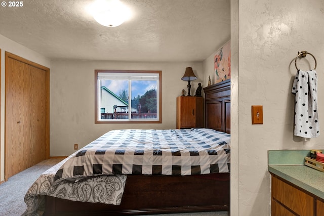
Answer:
M28 64L6 62L6 178L29 167L29 74Z

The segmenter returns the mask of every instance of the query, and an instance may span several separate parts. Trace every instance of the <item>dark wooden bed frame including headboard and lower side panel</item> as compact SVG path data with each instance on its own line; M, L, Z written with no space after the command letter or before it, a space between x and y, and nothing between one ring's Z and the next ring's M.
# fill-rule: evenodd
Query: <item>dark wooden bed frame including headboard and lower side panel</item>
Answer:
M230 132L230 80L204 88L206 127ZM220 109L220 110L213 110ZM129 175L120 205L46 196L45 215L139 215L229 211L230 174Z

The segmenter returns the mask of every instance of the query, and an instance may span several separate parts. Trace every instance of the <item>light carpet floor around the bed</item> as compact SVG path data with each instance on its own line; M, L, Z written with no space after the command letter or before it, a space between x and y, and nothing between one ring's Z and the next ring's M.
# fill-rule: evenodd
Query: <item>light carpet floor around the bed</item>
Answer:
M51 168L62 159L52 158L44 160L19 174L9 178L9 180L0 185L0 215L17 216L26 210L24 197L29 187L34 181L47 169ZM180 214L157 214L161 216L228 216L226 211L219 212L197 212ZM156 215L155 215L156 216Z

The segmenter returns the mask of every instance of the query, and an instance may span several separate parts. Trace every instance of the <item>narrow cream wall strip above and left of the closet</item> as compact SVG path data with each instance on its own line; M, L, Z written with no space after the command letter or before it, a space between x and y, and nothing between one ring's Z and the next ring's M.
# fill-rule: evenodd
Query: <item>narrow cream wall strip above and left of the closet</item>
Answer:
M50 59L38 54L0 34L1 49L1 139L0 139L0 182L5 179L5 52L10 52L29 61L51 67Z

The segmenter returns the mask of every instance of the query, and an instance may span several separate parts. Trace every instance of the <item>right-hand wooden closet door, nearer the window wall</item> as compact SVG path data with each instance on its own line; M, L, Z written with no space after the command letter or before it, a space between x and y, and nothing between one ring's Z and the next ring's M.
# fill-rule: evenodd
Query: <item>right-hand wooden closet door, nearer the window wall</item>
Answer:
M46 159L46 71L30 66L29 166Z

